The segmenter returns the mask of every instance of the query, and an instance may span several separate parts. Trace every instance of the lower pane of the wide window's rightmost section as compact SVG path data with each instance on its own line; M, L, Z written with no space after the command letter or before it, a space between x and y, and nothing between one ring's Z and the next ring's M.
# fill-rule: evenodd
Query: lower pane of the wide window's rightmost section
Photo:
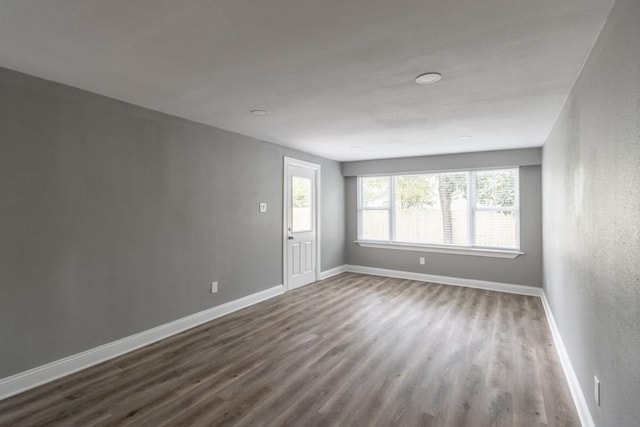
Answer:
M508 211L476 212L476 246L516 248L516 214Z

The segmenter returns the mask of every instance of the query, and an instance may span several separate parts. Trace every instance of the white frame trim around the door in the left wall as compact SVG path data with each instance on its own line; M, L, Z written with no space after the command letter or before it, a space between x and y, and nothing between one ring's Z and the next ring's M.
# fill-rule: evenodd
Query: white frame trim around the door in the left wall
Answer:
M282 206L282 280L284 290L289 290L289 254L287 251L287 245L289 243L289 233L287 227L289 226L289 204L290 204L290 191L289 191L289 165L303 167L307 169L313 169L315 171L315 217L316 217L316 268L315 268L315 281L320 279L320 211L321 209L321 191L320 191L320 177L322 168L316 163L306 162L304 160L295 159L293 157L284 157L283 168L283 206Z

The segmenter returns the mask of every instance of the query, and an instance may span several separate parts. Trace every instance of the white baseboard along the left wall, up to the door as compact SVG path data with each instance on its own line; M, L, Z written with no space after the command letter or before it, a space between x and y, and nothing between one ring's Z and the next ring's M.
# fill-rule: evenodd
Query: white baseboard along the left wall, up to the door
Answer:
M97 365L114 357L152 344L187 329L217 319L260 301L273 298L284 293L284 286L274 286L246 297L242 297L219 306L200 311L173 322L165 323L135 335L95 347L82 353L74 354L28 371L0 379L0 400L21 393L74 372Z

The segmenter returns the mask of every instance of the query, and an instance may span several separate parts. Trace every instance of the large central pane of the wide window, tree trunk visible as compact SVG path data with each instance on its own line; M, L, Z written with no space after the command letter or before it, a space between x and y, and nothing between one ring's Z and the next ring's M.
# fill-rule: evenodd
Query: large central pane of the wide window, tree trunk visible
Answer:
M397 241L468 245L467 173L394 179Z

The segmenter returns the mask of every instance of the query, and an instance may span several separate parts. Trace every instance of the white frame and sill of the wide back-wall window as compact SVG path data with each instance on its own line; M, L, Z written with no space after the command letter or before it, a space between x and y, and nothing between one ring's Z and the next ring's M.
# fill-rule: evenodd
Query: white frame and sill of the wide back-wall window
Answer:
M497 171L515 169L515 198L516 203L513 209L508 209L515 213L516 217L516 248L500 248L500 247L488 247L475 245L475 222L476 212L487 211L496 212L503 211L504 208L492 208L492 207L478 207L476 203L476 175L478 171ZM467 173L467 215L468 215L468 235L469 245L446 245L446 244L428 244L428 243L405 243L395 240L395 177L408 176L408 175L437 175L446 173ZM363 208L362 207L362 178L369 177L389 177L389 206L388 207L376 207L376 208ZM517 166L505 166L500 168L483 168L483 169L464 169L464 170L446 170L446 171L429 171L429 172L403 172L395 174L371 174L371 175L359 175L356 181L357 187L357 233L358 240L356 243L362 247L367 248L381 248L381 249L398 249L406 251L418 251L418 252L437 252L446 254L460 254L460 255L474 255L474 256L487 256L495 258L516 258L523 254L520 248L520 169ZM364 240L362 236L362 212L370 210L382 210L387 211L389 216L389 239L388 240Z

